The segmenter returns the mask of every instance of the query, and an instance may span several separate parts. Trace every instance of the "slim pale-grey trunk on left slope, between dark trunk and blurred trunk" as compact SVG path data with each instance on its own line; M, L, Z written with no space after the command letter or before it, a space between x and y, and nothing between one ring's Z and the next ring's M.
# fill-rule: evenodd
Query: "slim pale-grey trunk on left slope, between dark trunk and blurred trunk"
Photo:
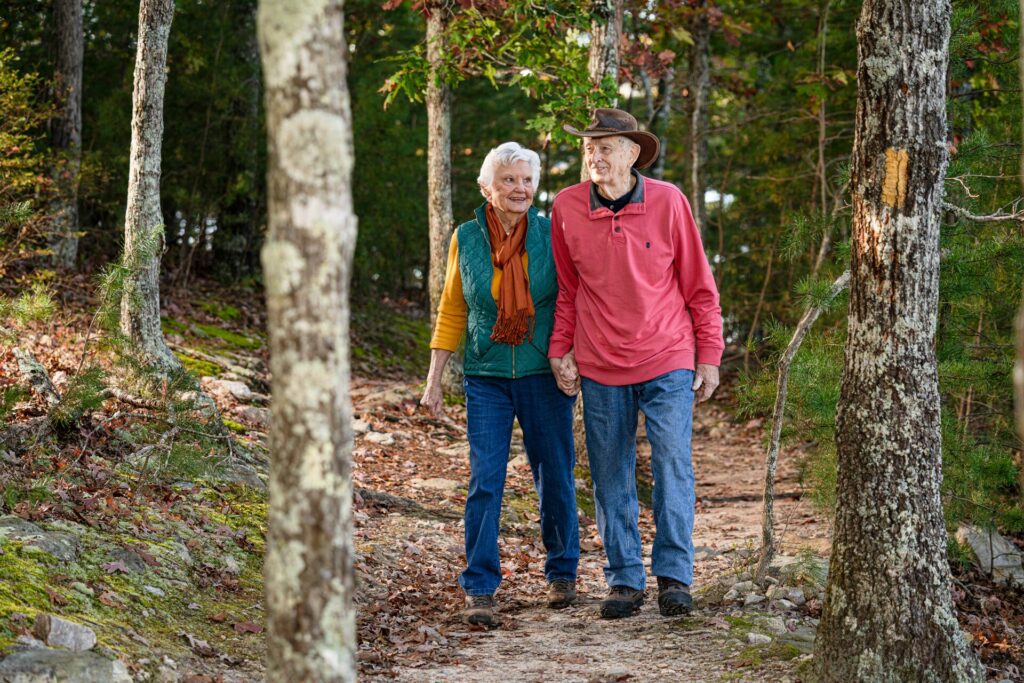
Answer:
M160 254L164 247L160 145L164 138L167 37L173 17L174 0L139 3L125 211L124 263L129 272L121 299L121 332L150 366L165 372L180 368L160 329Z

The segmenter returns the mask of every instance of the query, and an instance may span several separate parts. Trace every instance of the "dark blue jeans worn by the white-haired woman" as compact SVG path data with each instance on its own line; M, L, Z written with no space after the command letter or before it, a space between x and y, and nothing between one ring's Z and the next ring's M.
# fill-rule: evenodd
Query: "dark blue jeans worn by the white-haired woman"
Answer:
M550 374L518 379L466 377L469 495L466 497L467 595L490 595L502 582L498 530L512 422L522 428L526 458L541 503L541 538L548 552L544 575L575 580L580 528L575 507L574 396L558 390Z

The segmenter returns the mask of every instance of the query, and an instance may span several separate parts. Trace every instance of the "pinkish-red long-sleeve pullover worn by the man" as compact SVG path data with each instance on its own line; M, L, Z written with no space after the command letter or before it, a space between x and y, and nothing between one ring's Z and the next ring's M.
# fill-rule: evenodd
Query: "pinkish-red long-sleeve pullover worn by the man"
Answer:
M590 181L560 191L551 211L558 299L548 356L574 349L580 374L607 385L718 366L725 349L689 203L672 183L634 174L617 214Z

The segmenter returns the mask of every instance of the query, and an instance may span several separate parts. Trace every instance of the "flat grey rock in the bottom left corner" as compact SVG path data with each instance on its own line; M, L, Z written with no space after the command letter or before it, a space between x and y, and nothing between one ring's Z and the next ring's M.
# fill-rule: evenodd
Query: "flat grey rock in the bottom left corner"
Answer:
M24 649L0 660L0 681L10 683L132 683L118 660L95 652L62 649Z

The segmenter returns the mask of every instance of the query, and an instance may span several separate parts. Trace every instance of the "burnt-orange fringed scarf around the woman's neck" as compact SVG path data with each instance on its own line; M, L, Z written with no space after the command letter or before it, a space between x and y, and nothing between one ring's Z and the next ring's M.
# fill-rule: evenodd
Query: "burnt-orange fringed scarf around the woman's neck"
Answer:
M487 234L490 237L490 260L502 269L498 290L498 321L490 331L490 341L501 344L521 344L534 339L534 299L529 296L522 253L526 248L526 216L508 234L502 221L487 204Z

